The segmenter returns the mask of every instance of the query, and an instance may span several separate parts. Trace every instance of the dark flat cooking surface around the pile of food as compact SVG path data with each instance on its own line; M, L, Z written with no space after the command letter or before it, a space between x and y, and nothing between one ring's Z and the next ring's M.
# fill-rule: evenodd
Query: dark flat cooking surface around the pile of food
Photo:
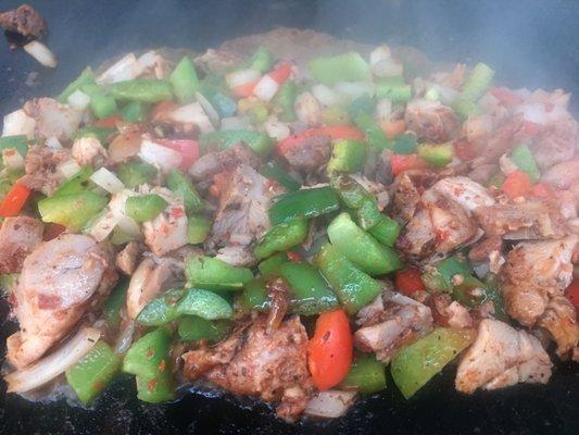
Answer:
M499 79L528 87L561 87L579 96L579 3L571 1L467 2L354 1L29 1L47 18L48 44L59 55L55 71L41 69L0 41L0 113L33 96L52 95L87 64L156 46L201 50L273 25L312 27L339 37L415 46L432 58L482 60ZM436 3L436 7L433 4ZM484 3L484 4L479 4ZM506 4L505 4L506 3ZM0 0L0 10L20 1ZM430 7L431 10L427 10ZM437 15L438 14L438 15ZM470 57L470 58L469 58ZM38 73L33 86L26 84ZM572 103L579 113L579 99ZM2 302L0 320L5 318ZM7 325L0 322L0 352ZM405 402L389 389L358 402L327 426L290 426L266 407L202 395L152 407L136 399L133 381L117 382L93 410L64 401L38 405L5 396L0 386L0 434L155 433L352 433L352 434L579 434L577 365L559 365L546 386L525 385L473 397L452 388L445 370Z

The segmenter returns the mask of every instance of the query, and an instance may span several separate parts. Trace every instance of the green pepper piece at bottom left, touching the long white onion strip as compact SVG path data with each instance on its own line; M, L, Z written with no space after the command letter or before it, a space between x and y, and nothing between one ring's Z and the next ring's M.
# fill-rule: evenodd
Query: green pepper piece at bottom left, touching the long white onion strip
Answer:
M100 340L78 362L66 369L68 385L78 399L89 405L121 370L121 357Z

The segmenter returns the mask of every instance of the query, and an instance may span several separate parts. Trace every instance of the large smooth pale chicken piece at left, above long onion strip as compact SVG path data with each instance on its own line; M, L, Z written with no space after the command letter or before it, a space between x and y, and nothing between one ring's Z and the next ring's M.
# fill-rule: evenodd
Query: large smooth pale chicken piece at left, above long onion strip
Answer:
M14 288L21 331L7 340L8 359L23 369L66 336L117 278L111 247L65 234L38 246L24 261Z

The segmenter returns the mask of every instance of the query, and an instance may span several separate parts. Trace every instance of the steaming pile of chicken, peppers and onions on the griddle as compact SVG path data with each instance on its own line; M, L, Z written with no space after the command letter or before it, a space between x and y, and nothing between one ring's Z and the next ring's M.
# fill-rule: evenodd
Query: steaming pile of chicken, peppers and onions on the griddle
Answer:
M4 116L9 391L88 406L125 372L295 421L387 370L411 398L452 363L471 394L579 360L569 96L418 66L129 53Z

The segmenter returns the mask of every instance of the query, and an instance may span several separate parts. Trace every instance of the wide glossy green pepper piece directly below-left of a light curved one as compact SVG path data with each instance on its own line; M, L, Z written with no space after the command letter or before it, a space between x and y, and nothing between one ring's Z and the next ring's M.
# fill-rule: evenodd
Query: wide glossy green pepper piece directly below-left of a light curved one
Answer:
M314 264L328 279L348 314L355 314L383 290L379 282L357 269L329 244L320 248Z

